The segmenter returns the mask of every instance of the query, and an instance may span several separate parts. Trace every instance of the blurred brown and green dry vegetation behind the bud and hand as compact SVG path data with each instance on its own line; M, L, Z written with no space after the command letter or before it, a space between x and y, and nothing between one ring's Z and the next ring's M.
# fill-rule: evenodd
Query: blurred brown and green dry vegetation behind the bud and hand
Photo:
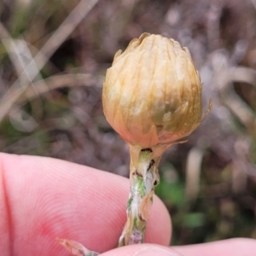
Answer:
M256 0L1 0L0 20L0 150L125 177L106 69L143 32L187 46L212 111L160 162L172 244L256 238Z

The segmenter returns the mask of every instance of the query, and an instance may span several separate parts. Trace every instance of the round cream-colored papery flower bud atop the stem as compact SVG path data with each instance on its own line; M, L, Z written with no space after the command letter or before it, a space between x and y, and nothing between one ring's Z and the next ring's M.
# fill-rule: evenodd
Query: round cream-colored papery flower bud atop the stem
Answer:
M142 148L175 143L201 124L201 79L189 49L160 35L143 33L116 53L102 101L113 129Z

